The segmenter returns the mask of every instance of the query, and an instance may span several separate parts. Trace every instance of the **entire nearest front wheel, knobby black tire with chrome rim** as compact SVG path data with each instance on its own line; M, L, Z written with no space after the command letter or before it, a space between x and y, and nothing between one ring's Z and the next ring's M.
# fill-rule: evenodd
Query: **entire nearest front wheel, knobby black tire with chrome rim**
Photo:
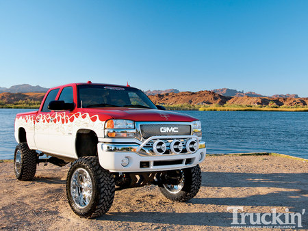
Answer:
M107 213L114 201L114 177L99 165L98 157L81 157L68 171L66 195L79 217L93 218Z

